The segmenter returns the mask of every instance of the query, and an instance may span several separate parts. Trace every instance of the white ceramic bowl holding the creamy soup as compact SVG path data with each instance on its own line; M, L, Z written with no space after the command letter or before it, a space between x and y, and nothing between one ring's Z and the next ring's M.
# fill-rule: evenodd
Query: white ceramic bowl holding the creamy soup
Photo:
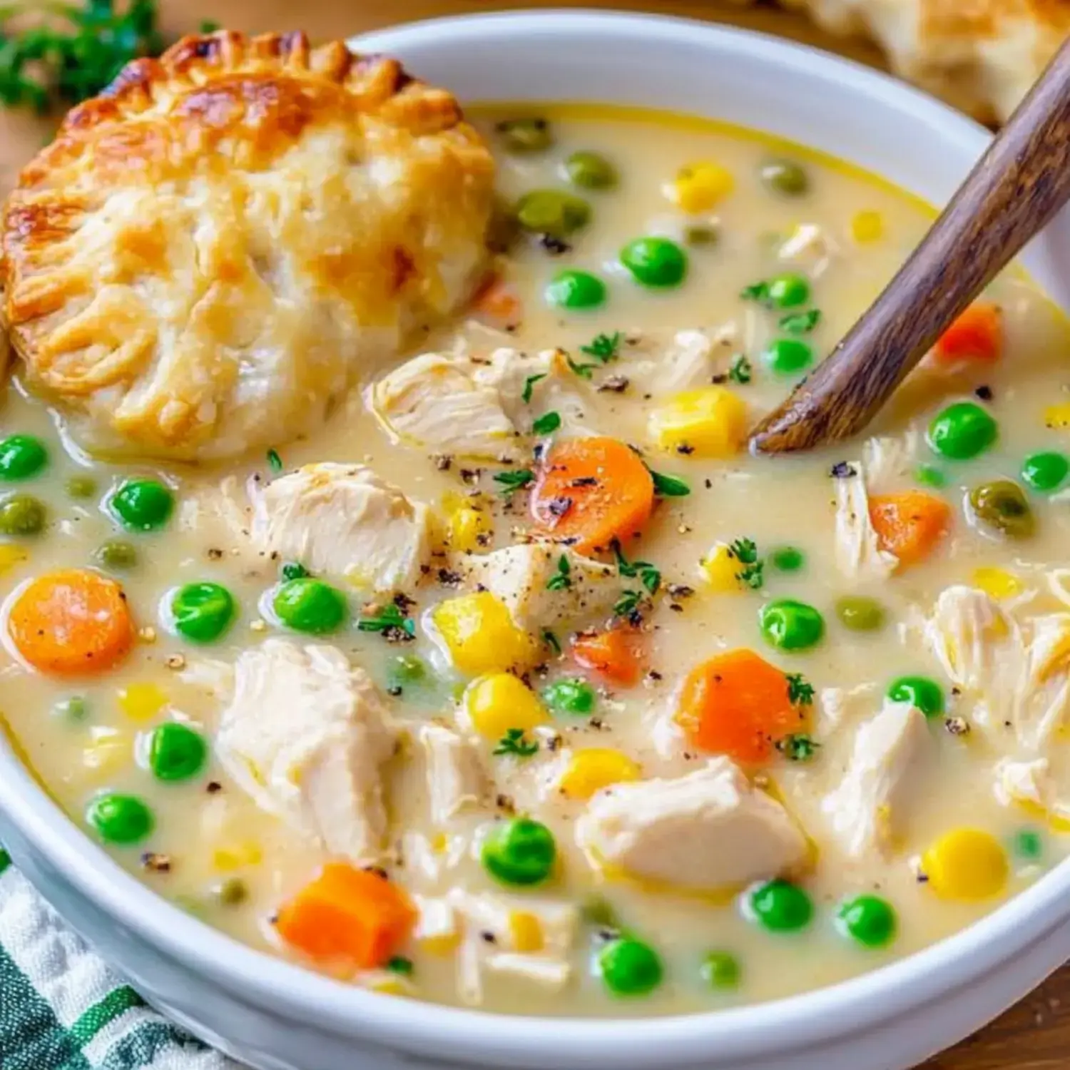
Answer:
M462 100L647 105L760 127L942 202L988 141L883 75L699 22L554 13L385 30ZM1070 218L1025 258L1070 309ZM919 301L924 300L919 294ZM158 1008L260 1070L900 1070L993 1018L1070 957L1070 865L913 958L777 1003L687 1018L517 1020L363 992L249 950L111 862L0 744L0 838L22 872Z

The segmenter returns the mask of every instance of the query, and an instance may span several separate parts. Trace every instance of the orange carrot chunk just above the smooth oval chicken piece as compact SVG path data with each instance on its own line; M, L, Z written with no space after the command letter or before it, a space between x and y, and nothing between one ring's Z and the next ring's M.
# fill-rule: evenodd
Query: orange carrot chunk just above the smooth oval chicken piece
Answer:
M684 678L676 721L692 745L761 765L778 740L806 730L804 706L794 705L776 666L744 647L718 654Z

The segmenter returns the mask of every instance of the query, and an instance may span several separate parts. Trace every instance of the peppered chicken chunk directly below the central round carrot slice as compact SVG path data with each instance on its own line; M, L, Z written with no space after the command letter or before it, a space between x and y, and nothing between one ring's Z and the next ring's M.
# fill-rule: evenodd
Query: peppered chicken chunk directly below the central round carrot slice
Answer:
M567 563L568 585L548 586ZM529 632L608 613L624 590L613 565L549 542L510 546L457 561L465 582L496 595Z

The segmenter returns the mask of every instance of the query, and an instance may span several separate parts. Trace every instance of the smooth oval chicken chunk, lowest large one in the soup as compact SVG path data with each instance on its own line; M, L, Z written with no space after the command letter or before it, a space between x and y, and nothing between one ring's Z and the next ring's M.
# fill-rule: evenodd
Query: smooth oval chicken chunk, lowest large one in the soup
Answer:
M683 777L598 792L576 825L594 867L694 890L774 877L802 866L802 830L728 758Z

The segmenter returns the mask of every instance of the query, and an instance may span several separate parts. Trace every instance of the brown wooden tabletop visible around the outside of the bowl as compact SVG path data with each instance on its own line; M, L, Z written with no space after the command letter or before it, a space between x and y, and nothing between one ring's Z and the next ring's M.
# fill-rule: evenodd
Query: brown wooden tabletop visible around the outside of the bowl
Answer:
M837 41L799 16L767 6L737 9L716 0L159 0L171 33L189 32L200 19L213 19L235 30L303 29L314 40L348 36L391 22L502 7L605 6L659 11L728 21L736 26L791 36L882 65L875 49L860 42ZM968 0L959 0L968 2ZM0 112L0 187L13 180L25 159L41 144L46 131L25 116ZM1050 978L1031 996L988 1028L946 1052L926 1070L1067 1070L1070 1068L1070 966ZM817 1068L815 1068L817 1070Z

